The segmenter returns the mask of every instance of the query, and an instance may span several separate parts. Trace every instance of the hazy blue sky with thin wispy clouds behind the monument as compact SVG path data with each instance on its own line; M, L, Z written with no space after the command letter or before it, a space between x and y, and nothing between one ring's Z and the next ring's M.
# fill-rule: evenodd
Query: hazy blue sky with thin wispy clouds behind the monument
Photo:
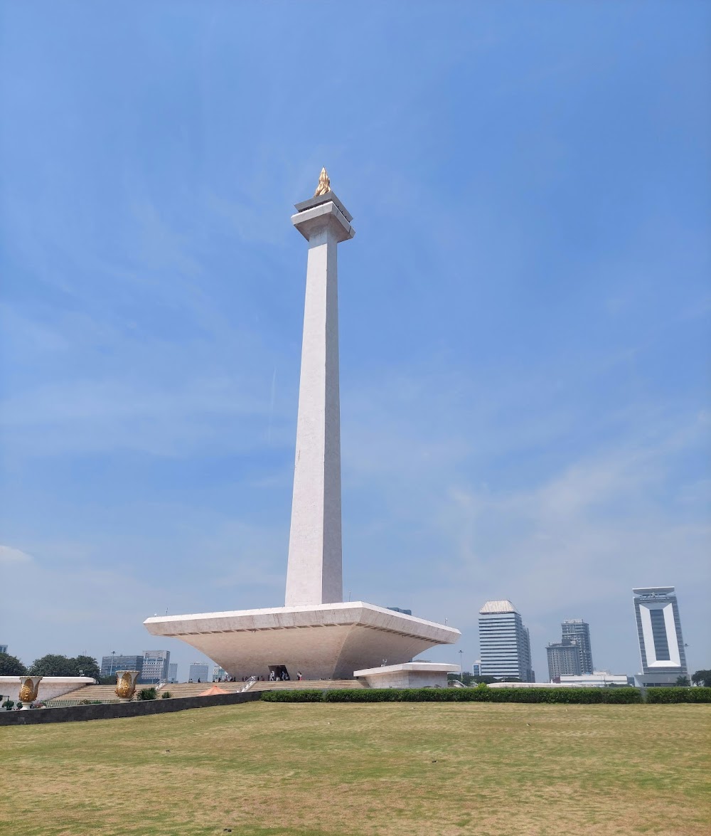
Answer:
M157 647L283 603L306 249L340 247L344 584L539 679L638 670L675 584L708 667L703 3L0 7L0 640ZM181 663L194 651L171 642Z

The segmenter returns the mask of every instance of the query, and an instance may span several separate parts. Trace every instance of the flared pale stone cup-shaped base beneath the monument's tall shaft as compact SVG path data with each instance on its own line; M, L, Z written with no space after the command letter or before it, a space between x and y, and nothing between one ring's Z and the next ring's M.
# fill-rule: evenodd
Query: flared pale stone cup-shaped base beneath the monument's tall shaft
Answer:
M269 675L284 665L292 679L348 679L353 671L409 662L434 645L452 645L460 631L444 624L354 601L244 609L146 619L151 635L192 645L231 676Z

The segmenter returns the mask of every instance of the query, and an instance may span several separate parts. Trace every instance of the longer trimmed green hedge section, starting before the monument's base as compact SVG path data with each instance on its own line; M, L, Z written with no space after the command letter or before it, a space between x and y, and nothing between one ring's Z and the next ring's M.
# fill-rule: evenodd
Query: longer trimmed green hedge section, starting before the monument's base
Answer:
M661 689L668 690L668 689ZM687 689L692 690L692 689ZM698 691L700 689L693 689ZM642 702L638 688L353 688L262 691L267 702Z

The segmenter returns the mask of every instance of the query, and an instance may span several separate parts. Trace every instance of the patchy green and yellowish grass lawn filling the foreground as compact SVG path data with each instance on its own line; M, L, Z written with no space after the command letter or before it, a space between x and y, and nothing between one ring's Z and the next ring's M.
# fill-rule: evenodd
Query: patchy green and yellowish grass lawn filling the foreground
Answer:
M711 706L248 703L0 728L0 833L708 836Z

